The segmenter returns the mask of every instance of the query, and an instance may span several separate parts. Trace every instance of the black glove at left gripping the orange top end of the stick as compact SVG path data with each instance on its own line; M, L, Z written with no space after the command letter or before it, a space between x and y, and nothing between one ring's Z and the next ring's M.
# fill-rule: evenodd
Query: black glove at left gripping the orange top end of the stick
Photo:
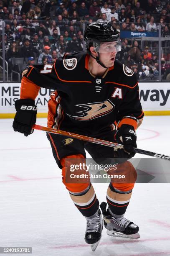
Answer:
M33 133L32 126L36 123L37 106L30 99L16 100L15 109L17 113L13 121L14 131L24 133L25 136Z

